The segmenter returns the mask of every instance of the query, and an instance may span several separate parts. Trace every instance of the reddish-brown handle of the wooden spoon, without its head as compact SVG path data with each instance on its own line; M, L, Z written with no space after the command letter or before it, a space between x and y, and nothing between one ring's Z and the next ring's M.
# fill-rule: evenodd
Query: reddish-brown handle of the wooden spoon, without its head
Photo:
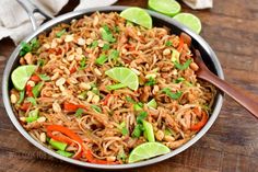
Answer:
M258 118L258 102L248 96L249 93L246 93L241 89L236 89L226 81L213 74L211 71L201 72L198 77L214 84Z

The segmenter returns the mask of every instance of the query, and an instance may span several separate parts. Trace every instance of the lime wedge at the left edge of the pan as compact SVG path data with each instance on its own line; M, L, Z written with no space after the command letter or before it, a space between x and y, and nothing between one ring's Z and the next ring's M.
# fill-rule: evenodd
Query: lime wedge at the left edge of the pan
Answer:
M12 72L12 83L17 90L23 90L27 80L31 78L37 66L25 65L20 66Z

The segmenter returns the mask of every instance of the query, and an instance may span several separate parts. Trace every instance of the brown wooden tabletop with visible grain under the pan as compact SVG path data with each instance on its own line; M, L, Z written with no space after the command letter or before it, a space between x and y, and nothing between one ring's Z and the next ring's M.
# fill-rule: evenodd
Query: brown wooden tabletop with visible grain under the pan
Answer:
M70 3L62 12L69 11ZM146 0L120 0L117 4L146 8ZM214 0L211 10L184 12L198 15L201 36L215 50L225 79L258 95L258 1ZM1 76L14 44L0 42ZM61 162L31 145L14 128L0 104L0 171L1 172L79 172L91 171ZM134 169L131 172L255 172L258 171L258 121L231 98L225 96L222 112L196 145L164 162Z

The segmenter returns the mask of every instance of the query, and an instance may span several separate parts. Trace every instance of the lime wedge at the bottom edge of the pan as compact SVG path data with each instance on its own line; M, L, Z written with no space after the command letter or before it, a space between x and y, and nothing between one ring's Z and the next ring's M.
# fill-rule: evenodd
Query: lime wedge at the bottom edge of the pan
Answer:
M171 149L160 142L144 142L136 147L130 156L129 163L142 161L153 157L162 156L171 152Z

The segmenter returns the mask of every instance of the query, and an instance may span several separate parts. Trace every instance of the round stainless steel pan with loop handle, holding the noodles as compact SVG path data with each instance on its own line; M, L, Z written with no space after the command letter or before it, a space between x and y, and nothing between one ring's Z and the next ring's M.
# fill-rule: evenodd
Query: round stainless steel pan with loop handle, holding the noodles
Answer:
M82 10L82 11L74 11L74 12L70 12L63 15L60 15L58 18L54 18L50 16L49 14L43 13L42 10L37 9L35 5L31 4L28 1L26 0L19 0L23 7L26 9L30 19L33 23L33 27L34 27L34 32L28 35L24 42L30 42L32 41L34 37L36 37L38 34L40 34L42 32L48 32L51 30L52 26L59 24L59 23L69 23L72 19L79 19L82 18L83 15L87 15L91 14L95 11L99 11L99 12L120 12L124 9L128 8L128 7L105 7L105 8L95 8L95 9L86 9L86 10ZM37 24L36 21L33 16L34 12L40 12L43 13L47 19L51 19L49 20L47 23L43 24L42 26L39 26L37 28ZM167 26L171 27L173 30L173 32L175 34L180 34L181 32L187 33L188 35L191 36L192 38L192 46L196 49L199 49L201 53L201 56L203 57L204 62L209 66L210 70L212 70L216 76L219 76L221 79L224 79L223 76L223 71L220 65L220 61L218 60L214 51L212 50L212 48L208 45L208 43L201 38L199 35L195 34L194 32L189 31L187 27L185 27L184 25L177 23L176 21L174 21L173 19L155 13L153 11L148 11L150 13L150 15L153 19L153 25L154 26ZM58 153L56 153L55 151L46 148L45 146L43 146L42 144L39 144L38 141L36 141L34 138L32 138L27 131L22 127L22 125L19 123L19 119L16 118L13 108L11 106L10 103L10 89L12 88L12 83L11 83L11 72L13 69L15 69L19 66L19 51L21 50L21 45L19 45L15 50L12 53L12 55L10 56L5 69L4 69L4 73L3 73L3 80L2 80L2 94L3 94L3 103L7 110L7 113L10 117L10 119L12 121L13 125L16 127L16 129L31 142L33 144L35 147L37 147L38 149L43 150L44 152L63 160L66 162L69 163L73 163L77 165L81 165L81 167L85 167L85 168L93 168L93 169L106 169L106 170L119 170L119 169L131 169L131 168L139 168L139 167L144 167L144 165L149 165L149 164L153 164L156 162L161 162L163 160L166 160L168 158L172 158L178 153L180 153L181 151L186 150L187 148L189 148L190 146L192 146L196 141L198 141L207 131L208 129L212 126L212 124L215 122L220 111L221 111L221 106L222 106L222 102L223 102L223 95L222 94L218 94L214 101L214 105L213 105L213 111L212 114L207 123L207 125L188 142L186 142L185 145L183 145L181 147L173 150L172 152L157 157L157 158L153 158L150 160L145 160L142 162L137 162L137 163L132 163L132 164L116 164L116 165L105 165L105 164L93 164L93 163L87 163L87 162L82 162L82 161L78 161L74 159L70 159L70 158L66 158L62 157Z

